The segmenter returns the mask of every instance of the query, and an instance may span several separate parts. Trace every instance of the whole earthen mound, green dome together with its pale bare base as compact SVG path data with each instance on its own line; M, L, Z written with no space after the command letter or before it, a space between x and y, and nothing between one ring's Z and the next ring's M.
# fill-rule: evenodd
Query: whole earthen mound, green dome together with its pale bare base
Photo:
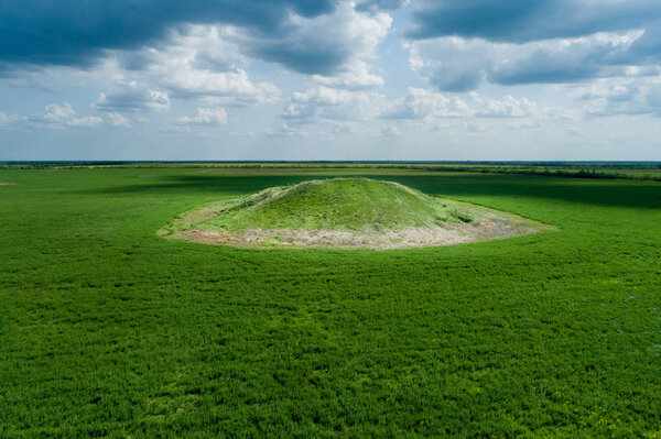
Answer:
M397 249L532 233L538 223L368 178L308 180L215 201L161 234L235 246Z

